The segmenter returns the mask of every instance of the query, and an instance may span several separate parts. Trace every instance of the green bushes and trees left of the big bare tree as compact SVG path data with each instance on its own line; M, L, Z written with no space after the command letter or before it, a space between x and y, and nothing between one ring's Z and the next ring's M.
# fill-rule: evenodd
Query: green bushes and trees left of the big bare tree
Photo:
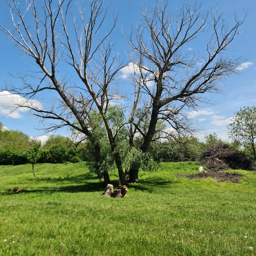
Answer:
M80 162L87 161L88 157L87 143L77 145L68 137L52 135L41 145L40 141L18 130L0 129L0 165L27 164L33 160L52 164Z

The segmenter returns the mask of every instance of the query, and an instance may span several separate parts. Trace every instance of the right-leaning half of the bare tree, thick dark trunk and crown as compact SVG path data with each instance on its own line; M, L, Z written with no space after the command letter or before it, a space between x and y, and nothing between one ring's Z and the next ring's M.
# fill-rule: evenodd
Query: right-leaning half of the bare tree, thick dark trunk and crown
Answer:
M140 72L140 94L151 98L142 152L148 150L158 120L176 130L189 130L188 109L209 102L209 93L220 92L219 83L238 72L241 60L230 50L243 20L235 16L229 27L222 14L200 10L198 4L184 4L179 12L169 13L168 1L157 1L155 7L145 7L140 24L133 25L126 37ZM190 43L202 44L202 38L208 43L195 52ZM138 182L138 169L130 173L130 181Z

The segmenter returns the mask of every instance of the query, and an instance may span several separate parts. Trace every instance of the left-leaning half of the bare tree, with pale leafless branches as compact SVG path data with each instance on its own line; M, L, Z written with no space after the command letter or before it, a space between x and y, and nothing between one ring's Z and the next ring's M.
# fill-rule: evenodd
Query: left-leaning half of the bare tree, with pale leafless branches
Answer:
M23 95L27 102L34 97L39 99L40 93L52 92L55 99L49 109L27 102L20 106L31 108L43 120L54 121L48 130L68 126L86 135L100 161L99 143L88 126L88 115L96 109L103 118L121 184L125 184L115 138L106 118L109 103L117 95L114 85L122 67L108 40L117 16L113 16L109 31L103 33L101 27L108 11L103 0L91 0L88 6L78 8L72 0L6 2L11 9L12 29L3 25L0 29L39 67L31 74L39 83L32 84L27 73L20 75L22 87L7 89Z

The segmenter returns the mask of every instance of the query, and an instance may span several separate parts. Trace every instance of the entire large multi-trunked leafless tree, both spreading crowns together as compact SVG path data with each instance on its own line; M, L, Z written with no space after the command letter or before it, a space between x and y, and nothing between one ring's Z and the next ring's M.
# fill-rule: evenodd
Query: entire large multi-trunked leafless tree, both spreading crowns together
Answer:
M125 184L115 140L118 129L111 127L107 117L111 102L125 98L116 86L124 64L114 54L113 42L109 40L117 16L113 16L106 32L102 25L108 9L103 7L103 0L90 0L88 6L78 8L72 0L5 1L11 9L12 29L3 25L0 29L38 67L36 72L20 76L22 87L7 89L27 99L20 106L31 108L44 121L52 120L48 130L67 126L86 135L100 161L99 143L89 121L90 113L97 110L121 184ZM132 49L131 62L137 67L135 100L130 110L130 144L139 132L143 138L140 149L145 153L158 132L157 123L164 122L175 132L189 130L188 109L207 102L206 93L219 92L222 79L238 72L240 60L229 55L228 50L243 20L236 17L234 25L228 27L222 15L213 11L200 13L200 5L185 4L180 12L168 13L168 1L157 1L152 9L145 7L141 18L126 40ZM205 50L189 50L190 43L200 40L203 32L209 39ZM39 82L32 83L29 75ZM44 92L51 92L54 97L49 109L28 103ZM136 117L139 108L140 115ZM137 174L135 168L130 181L137 181Z

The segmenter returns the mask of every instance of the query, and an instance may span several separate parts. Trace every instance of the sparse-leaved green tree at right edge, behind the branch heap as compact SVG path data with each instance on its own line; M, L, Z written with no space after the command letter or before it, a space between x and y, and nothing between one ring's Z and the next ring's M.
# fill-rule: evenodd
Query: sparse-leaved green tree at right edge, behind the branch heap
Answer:
M236 144L248 148L256 159L256 107L244 107L235 112L232 123L229 124L229 137Z

